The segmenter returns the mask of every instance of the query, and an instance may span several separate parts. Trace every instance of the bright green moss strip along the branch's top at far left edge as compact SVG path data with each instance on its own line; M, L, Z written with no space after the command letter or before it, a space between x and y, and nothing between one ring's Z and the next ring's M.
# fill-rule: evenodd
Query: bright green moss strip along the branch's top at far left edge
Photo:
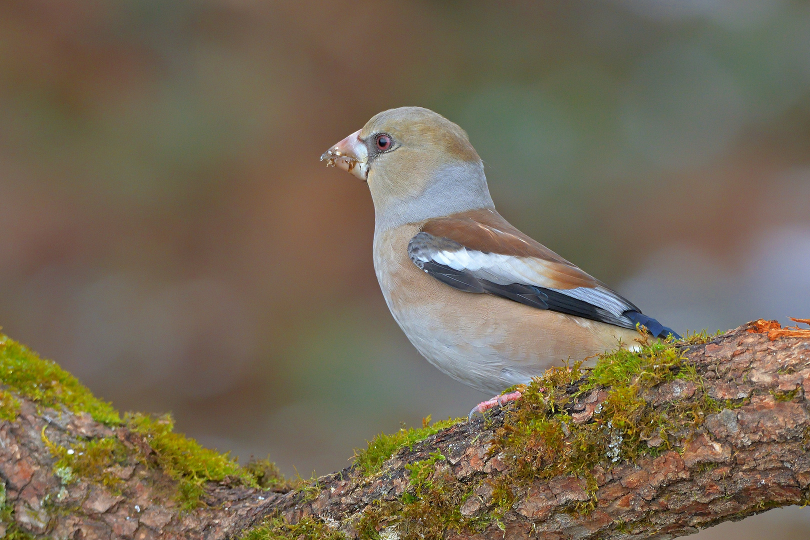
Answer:
M61 404L75 413L90 413L109 426L121 423L113 406L93 396L75 376L4 334L0 334L0 382L42 406Z

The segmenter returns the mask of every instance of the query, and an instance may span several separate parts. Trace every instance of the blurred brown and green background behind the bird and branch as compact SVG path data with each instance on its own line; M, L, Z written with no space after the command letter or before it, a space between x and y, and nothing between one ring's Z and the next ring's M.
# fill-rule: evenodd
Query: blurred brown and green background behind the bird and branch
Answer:
M363 183L465 128L524 232L679 332L810 317L810 5L0 2L0 324L121 410L288 474L489 398L410 346ZM810 510L698 537L808 538Z

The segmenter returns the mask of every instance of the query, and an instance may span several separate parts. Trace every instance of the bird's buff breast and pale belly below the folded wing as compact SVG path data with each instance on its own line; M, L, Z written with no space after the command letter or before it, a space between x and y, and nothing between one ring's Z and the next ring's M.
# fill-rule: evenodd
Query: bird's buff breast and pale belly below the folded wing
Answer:
M616 348L620 339L632 343L632 330L458 291L433 279L401 254L415 233L405 231L399 241L375 238L377 279L407 338L454 379L497 393L552 365Z

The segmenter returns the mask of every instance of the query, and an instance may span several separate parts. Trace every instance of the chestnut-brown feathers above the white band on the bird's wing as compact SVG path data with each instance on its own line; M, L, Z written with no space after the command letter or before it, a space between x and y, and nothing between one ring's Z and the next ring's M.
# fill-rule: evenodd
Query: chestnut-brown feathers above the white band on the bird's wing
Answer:
M596 287L601 284L538 241L518 231L495 210L468 210L445 218L428 219L422 231L450 238L468 249L547 261L544 274L557 289Z

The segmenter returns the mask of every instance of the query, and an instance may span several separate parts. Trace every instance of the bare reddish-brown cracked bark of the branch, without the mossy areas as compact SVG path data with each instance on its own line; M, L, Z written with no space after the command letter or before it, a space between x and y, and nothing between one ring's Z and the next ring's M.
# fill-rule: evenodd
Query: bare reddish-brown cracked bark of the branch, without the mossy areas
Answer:
M779 329L767 321L741 326L684 351L716 399L745 398L742 406L710 415L680 451L594 471L595 509L572 512L586 498L579 478L561 476L518 487L500 523L478 534L448 531L448 538L674 538L721 521L808 500L810 484L810 332ZM689 399L693 389L662 385L661 399ZM673 394L673 395L669 395ZM504 411L450 427L403 449L371 478L355 467L318 478L305 491L286 494L209 484L206 505L180 512L168 495L172 481L138 464L113 471L120 495L95 483L63 485L42 434L58 444L117 436L144 444L126 428L111 430L89 415L37 410L23 400L15 422L0 424L0 475L18 531L52 538L234 538L263 517L290 522L312 516L356 534L364 509L394 501L407 490L408 464L441 452L443 474L468 486L505 469L489 452ZM435 454L434 454L435 455ZM491 490L490 490L491 491ZM461 513L474 516L492 504L478 489ZM0 531L0 532L3 532Z

